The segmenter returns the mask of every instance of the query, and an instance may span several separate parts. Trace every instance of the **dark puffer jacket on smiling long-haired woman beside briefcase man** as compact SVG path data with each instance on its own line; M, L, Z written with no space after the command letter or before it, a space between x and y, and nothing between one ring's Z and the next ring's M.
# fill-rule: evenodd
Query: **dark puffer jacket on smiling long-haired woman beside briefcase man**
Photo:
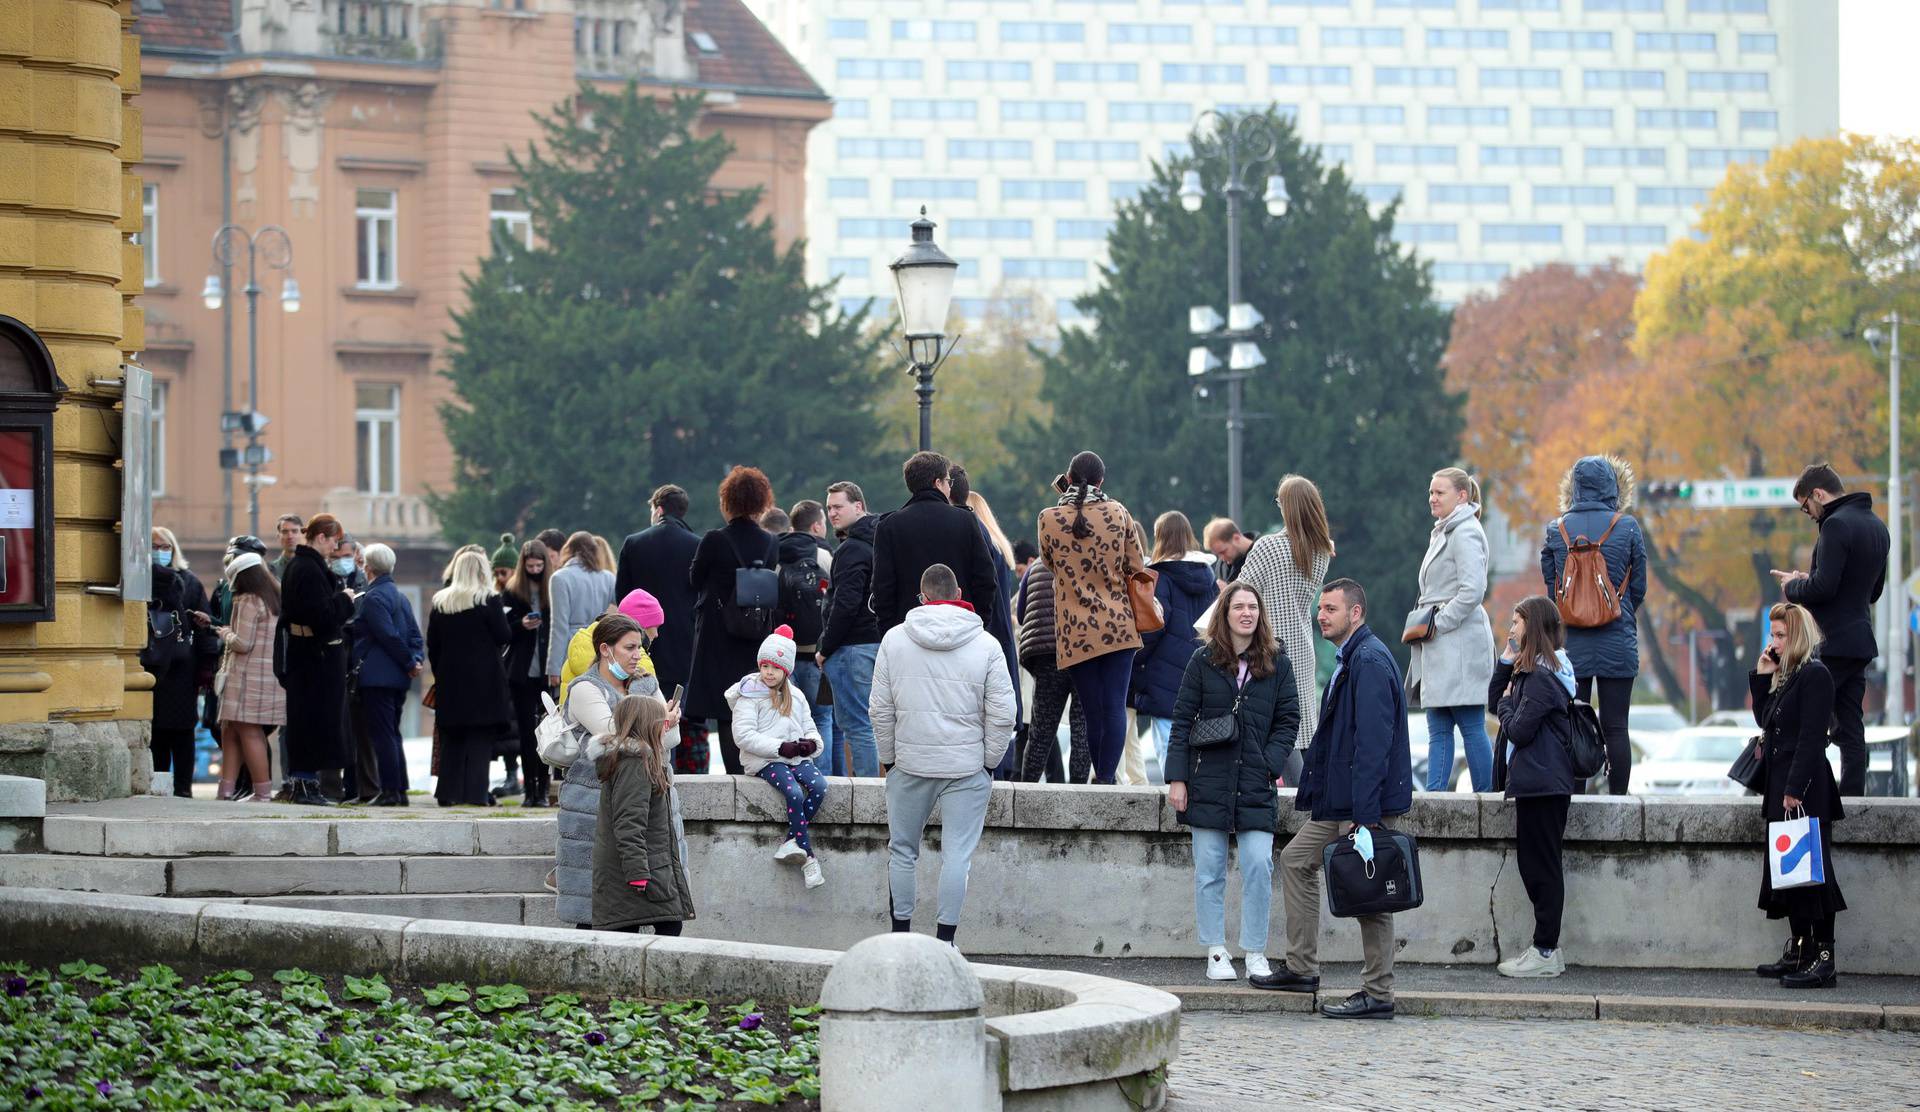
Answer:
M1183 824L1198 830L1267 830L1279 820L1273 782L1286 768L1286 755L1300 734L1300 691L1284 649L1277 668L1238 686L1238 663L1221 668L1200 645L1187 657L1173 730L1167 737L1167 784L1187 784ZM1244 699L1242 699L1244 695ZM1240 701L1238 736L1225 745L1194 749L1188 739L1196 718L1233 714Z

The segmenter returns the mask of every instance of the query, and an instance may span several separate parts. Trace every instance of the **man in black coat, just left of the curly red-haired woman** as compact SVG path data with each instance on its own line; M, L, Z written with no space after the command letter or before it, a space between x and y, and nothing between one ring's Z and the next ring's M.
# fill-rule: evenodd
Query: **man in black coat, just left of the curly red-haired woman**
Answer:
M687 528L687 509L693 505L687 492L666 484L653 492L653 526L628 536L620 544L620 561L614 568L612 597L624 599L628 592L641 590L659 599L666 611L660 622L660 636L653 640L647 653L653 657L653 670L660 680L660 697L672 699L674 689L687 682L693 670L693 586L687 584L687 568L693 567L693 553L701 547L701 534ZM551 572L559 553L549 557ZM687 774L707 772L707 722L680 722L680 749L674 751L674 770Z

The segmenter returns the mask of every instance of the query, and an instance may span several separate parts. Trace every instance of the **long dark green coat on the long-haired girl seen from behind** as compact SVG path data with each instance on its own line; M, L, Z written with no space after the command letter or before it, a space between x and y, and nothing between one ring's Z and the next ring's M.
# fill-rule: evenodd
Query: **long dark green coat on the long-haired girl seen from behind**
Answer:
M670 797L653 786L645 759L622 757L612 768L595 820L593 930L693 918L693 885ZM647 887L630 880L645 880Z

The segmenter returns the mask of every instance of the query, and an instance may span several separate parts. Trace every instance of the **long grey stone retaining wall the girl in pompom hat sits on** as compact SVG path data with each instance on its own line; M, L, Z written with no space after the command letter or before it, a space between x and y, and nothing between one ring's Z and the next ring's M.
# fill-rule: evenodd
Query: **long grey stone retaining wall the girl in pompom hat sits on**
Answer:
M887 924L885 786L829 780L814 824L828 885L772 860L785 807L755 778L680 780L697 933L845 949ZM1302 814L1283 793L1281 839ZM1843 968L1910 974L1920 891L1920 801L1849 799L1834 874L1847 895ZM1421 793L1404 826L1421 839L1427 903L1396 918L1400 958L1496 962L1530 941L1532 907L1513 860L1513 805ZM1786 924L1757 910L1764 870L1757 799L1574 797L1567 822L1563 945L1574 964L1730 968L1780 951ZM937 849L937 812L929 828ZM1279 870L1279 862L1275 862ZM937 853L922 857L916 926L931 930ZM1275 887L1279 880L1275 878ZM1238 941L1238 876L1227 883ZM970 953L1188 956L1192 851L1156 787L996 784L973 855L960 928ZM1284 908L1273 895L1269 953ZM1323 912L1323 960L1359 960L1359 931Z

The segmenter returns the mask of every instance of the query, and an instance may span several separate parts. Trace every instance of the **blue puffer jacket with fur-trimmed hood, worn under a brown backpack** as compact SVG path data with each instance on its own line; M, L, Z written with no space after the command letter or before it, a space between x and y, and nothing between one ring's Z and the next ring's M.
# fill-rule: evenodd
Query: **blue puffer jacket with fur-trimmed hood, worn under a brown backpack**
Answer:
M1561 517L1548 522L1546 544L1540 545L1540 576L1548 584L1548 597L1559 584L1561 568L1567 567L1567 542L1561 540L1561 522L1567 536L1597 542L1607 532L1607 520L1617 509L1634 505L1634 469L1624 459L1613 455L1588 455L1572 465L1561 478ZM1640 638L1634 630L1634 613L1647 597L1647 549L1640 538L1640 522L1622 513L1607 544L1601 545L1607 561L1607 580L1613 586L1626 584L1620 592L1620 616L1597 630L1567 628L1567 657L1578 676L1626 678L1640 674Z

